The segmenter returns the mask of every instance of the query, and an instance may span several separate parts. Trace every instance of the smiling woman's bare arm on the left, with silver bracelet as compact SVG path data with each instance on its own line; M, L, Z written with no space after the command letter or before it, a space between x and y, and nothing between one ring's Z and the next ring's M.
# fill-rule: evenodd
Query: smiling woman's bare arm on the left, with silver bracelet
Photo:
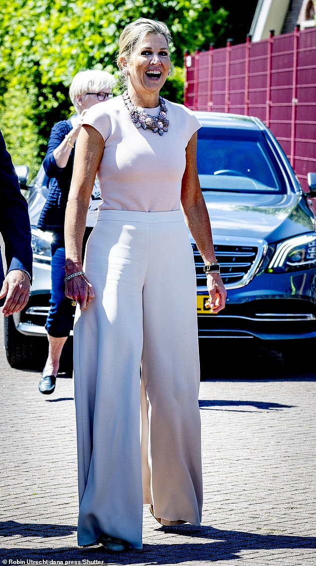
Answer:
M66 275L82 271L81 252L86 213L104 141L92 126L82 126L78 137L73 175L65 217ZM66 282L66 296L85 309L94 297L92 285L85 276L73 277Z

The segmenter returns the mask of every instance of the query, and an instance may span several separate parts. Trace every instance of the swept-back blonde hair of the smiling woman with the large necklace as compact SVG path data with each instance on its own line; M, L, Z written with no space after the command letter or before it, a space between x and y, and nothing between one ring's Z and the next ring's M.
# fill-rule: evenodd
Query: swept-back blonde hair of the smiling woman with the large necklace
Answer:
M138 18L135 22L131 22L123 29L119 38L119 50L116 58L116 64L121 72L123 71L123 65L120 59L124 57L125 61L130 61L133 51L137 48L137 45L144 39L144 37L148 35L148 33L155 33L165 37L167 46L171 42L171 34L165 23L158 22L156 20L149 20L147 18ZM123 75L123 72L120 82L123 87L127 86L128 78Z

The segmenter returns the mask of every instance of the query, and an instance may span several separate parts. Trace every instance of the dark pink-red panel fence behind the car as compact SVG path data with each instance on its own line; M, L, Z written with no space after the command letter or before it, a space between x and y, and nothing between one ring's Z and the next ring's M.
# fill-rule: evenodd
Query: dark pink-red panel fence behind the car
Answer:
M261 118L306 190L316 171L316 28L186 53L184 104Z

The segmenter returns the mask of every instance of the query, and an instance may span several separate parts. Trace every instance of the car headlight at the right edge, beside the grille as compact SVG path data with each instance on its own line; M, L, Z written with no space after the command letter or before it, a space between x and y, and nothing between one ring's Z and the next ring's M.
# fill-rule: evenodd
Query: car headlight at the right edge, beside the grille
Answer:
M284 273L298 271L299 269L310 269L316 266L316 235L302 234L281 242L276 250L270 264L268 273Z

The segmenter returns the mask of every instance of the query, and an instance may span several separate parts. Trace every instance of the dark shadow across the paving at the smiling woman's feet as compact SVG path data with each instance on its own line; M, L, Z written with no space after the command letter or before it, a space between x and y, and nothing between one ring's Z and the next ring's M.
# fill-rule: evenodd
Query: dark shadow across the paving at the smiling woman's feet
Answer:
M60 537L72 534L75 528L66 525L38 525L19 524L7 521L0 524L8 536L14 534L25 537ZM209 561L240 559L240 552L246 550L276 550L280 548L316 548L315 537L291 537L274 534L254 534L242 531L213 529L209 526L193 527L184 525L179 527L161 527L157 531L167 535L178 534L181 537L201 538L203 542L185 542L174 544L175 540L167 537L166 543L144 544L143 550L131 550L118 556L105 554L101 546L90 548L54 547L44 548L14 548L12 550L0 548L0 555L12 559L54 559L93 560L104 561L111 564L180 564L188 561Z

